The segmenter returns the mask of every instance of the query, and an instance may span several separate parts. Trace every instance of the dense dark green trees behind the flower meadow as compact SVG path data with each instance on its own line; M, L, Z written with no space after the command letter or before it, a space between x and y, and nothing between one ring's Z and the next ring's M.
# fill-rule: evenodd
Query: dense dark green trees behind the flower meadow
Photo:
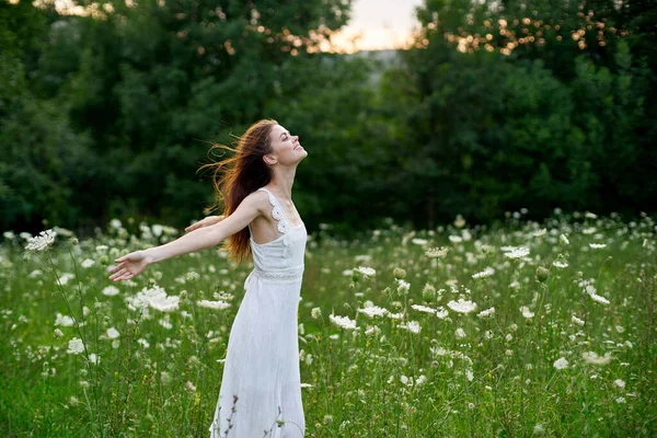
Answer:
M210 142L262 117L309 151L309 229L654 212L650 2L472 3L426 0L415 47L380 59L320 51L348 1L1 2L0 229L184 227Z

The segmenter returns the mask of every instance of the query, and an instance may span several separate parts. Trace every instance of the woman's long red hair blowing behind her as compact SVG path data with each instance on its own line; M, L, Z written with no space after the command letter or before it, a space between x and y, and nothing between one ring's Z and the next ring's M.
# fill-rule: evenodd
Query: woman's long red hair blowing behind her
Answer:
M276 125L278 122L270 118L254 123L246 132L238 137L235 149L212 143L208 153L215 149L224 149L232 152L232 157L199 168L210 168L215 171L215 204L209 211L223 205L223 216L229 217L246 196L272 181L272 169L265 164L263 157L273 151L269 134ZM251 256L250 237L249 228L245 227L226 239L221 245L228 252L228 256L238 262L238 266Z

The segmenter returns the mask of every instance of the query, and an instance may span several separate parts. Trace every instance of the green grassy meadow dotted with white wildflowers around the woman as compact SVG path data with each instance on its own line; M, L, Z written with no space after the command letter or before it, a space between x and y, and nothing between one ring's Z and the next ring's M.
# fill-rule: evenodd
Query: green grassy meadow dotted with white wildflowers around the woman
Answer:
M657 436L655 221L525 214L309 235L307 437ZM209 435L252 265L209 249L114 284L181 233L128 222L4 232L1 436Z

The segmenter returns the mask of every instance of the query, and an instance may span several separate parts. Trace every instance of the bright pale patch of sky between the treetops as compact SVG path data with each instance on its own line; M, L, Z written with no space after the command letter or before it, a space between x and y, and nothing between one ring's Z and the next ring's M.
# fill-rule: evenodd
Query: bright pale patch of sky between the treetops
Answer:
M423 0L354 0L349 24L333 36L338 51L401 48L416 25L415 8ZM360 35L355 44L354 36Z

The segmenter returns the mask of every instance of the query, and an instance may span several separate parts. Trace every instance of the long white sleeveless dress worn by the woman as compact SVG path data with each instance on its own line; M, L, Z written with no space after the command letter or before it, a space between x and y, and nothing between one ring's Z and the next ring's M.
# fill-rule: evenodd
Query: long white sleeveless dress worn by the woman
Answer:
M306 433L297 312L308 234L303 222L290 226L268 189L258 191L268 194L281 234L263 244L250 240L254 268L230 330L210 438L300 438ZM285 423L279 427L277 420Z

